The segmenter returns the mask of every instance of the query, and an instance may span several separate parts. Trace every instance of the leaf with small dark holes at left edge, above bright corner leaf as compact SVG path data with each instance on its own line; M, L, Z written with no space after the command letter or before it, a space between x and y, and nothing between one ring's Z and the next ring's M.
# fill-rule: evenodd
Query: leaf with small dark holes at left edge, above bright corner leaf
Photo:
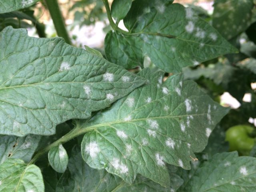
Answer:
M6 159L22 159L29 162L36 151L41 136L27 135L25 137L0 136L0 164Z

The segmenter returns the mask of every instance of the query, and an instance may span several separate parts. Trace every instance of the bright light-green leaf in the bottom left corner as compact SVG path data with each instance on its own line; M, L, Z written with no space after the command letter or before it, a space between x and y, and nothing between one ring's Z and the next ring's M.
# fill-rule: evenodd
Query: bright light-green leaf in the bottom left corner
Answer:
M0 165L1 192L44 192L43 177L35 165L20 159L8 159Z

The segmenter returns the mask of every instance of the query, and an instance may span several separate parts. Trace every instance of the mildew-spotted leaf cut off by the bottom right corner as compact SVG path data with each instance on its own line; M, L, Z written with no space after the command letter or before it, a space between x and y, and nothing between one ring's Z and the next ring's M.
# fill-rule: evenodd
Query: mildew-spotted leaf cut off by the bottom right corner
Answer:
M254 192L256 158L237 152L216 154L200 166L185 186L187 192Z

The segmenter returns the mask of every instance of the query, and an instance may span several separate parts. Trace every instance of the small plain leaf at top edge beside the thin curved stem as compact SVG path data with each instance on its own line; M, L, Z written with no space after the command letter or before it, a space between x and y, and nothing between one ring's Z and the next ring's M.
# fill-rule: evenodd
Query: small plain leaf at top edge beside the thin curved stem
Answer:
M111 15L116 21L122 20L132 6L132 0L114 0L111 5Z

